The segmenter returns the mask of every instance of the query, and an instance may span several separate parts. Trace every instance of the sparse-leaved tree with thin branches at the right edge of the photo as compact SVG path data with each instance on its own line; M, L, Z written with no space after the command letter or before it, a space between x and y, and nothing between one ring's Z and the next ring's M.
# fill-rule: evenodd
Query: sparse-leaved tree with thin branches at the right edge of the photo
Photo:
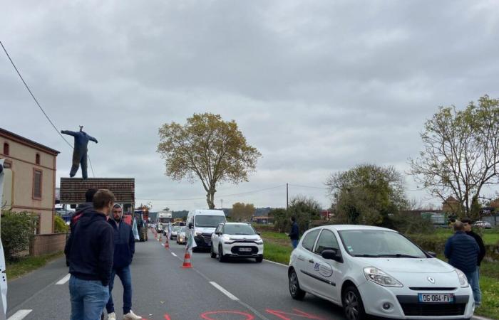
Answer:
M483 187L499 182L499 100L485 95L462 111L440 107L421 139L424 151L409 159L410 173L444 202L456 198L456 214L478 216Z

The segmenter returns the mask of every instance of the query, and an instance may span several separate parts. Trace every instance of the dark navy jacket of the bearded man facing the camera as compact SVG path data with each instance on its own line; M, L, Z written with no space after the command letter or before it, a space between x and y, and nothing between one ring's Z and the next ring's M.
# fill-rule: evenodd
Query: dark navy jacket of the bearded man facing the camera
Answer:
M113 208L117 206L121 208L122 212L120 222L117 223L112 214L112 218L108 220L114 230L114 269L130 265L135 253L135 238L133 237L132 227L123 221L123 208L118 204L115 204Z

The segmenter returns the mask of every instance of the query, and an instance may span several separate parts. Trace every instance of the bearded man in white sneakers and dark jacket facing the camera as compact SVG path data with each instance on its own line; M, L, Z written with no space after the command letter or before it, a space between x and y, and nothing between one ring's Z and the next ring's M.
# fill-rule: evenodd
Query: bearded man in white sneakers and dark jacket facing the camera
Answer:
M135 253L135 238L132 227L123 221L123 208L119 204L113 206L112 218L108 220L114 230L113 271L109 282L109 300L106 304L108 320L115 320L113 302L114 277L118 274L123 285L123 320L140 320L141 316L133 313L132 308L132 274L130 263Z

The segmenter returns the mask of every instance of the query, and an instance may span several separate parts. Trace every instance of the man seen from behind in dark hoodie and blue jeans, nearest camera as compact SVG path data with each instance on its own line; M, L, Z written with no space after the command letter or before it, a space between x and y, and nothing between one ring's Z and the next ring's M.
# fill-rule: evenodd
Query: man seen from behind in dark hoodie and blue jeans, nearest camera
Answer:
M106 221L113 208L114 195L99 190L93 196L94 210L78 220L71 235L69 255L69 294L71 320L98 320L109 299L108 284L114 255L113 227Z

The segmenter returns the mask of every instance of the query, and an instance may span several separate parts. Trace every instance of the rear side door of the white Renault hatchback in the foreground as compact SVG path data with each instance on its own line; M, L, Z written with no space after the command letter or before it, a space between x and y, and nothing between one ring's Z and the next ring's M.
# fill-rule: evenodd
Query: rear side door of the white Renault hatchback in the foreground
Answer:
M317 235L319 235L320 229L309 231L302 242L300 242L299 247L296 250L297 254L297 274L300 285L303 289L311 291L313 289L312 277L308 272L309 265L312 264L314 253L314 244L317 240Z

